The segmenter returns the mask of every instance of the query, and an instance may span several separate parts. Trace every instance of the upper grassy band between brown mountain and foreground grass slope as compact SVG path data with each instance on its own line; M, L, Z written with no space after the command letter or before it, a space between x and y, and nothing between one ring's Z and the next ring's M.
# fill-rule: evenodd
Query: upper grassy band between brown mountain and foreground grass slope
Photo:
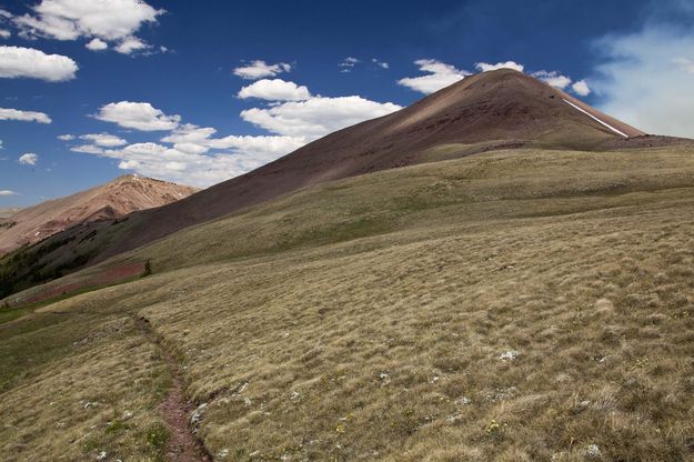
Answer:
M378 172L301 190L109 263L150 259L162 271L385 233L422 239L461 227L487 230L519 219L645 205L688 193L692 152L515 150Z

